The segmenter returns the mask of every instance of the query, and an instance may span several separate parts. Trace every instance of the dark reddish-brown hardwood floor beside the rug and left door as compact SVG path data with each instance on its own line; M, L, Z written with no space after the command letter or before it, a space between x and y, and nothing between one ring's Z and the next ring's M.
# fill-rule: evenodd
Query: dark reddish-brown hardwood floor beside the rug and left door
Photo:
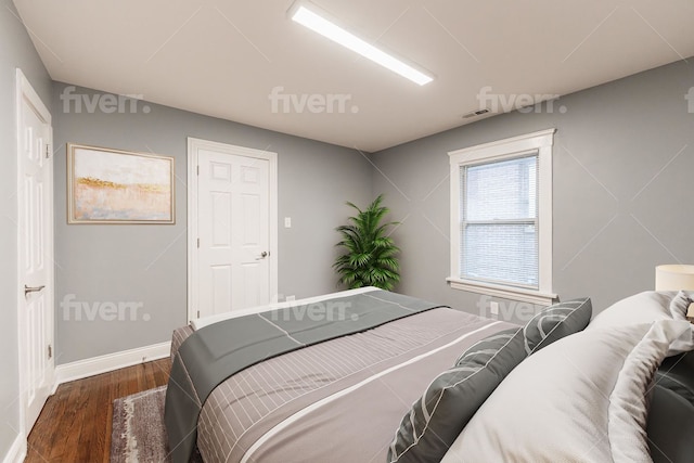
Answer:
M108 462L113 401L165 385L170 363L167 358L61 385L29 434L25 462Z

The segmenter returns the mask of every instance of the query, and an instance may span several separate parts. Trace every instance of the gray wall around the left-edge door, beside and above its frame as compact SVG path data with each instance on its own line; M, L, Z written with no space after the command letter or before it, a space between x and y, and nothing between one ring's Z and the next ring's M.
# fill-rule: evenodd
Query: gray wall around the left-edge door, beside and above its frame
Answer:
M47 105L51 102L51 79L10 0L2 0L0 4L0 300L3 306L0 323L0 459L3 459L20 428L15 69L22 69Z

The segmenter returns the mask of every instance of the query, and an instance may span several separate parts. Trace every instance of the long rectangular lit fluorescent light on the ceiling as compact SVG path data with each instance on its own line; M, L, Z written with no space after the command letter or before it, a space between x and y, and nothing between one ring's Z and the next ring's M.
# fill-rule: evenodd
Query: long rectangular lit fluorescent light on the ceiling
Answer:
M296 8L296 11L292 14L292 21L308 27L321 36L327 37L332 41L359 53L415 83L423 86L434 80L433 77L377 49L354 34L348 33L303 4L298 4L298 8Z

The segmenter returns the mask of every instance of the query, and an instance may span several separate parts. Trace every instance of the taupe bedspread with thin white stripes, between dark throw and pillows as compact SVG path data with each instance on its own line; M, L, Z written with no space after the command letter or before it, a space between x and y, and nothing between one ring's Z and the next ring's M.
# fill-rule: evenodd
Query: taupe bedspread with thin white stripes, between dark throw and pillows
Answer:
M255 364L203 404L201 454L206 462L383 462L428 383L467 347L509 327L438 308ZM175 332L172 355L191 333Z

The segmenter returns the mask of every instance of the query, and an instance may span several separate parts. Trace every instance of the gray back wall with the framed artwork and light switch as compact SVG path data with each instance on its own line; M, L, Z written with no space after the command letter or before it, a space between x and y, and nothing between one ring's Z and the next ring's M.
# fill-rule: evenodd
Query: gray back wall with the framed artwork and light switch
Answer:
M67 89L81 106L62 97ZM57 364L169 340L187 321L187 138L278 153L279 293L307 297L336 291L331 265L346 201L371 200L371 165L358 152L325 143L138 102L123 113L89 113L102 93L54 83ZM145 95L146 97L146 95ZM105 106L107 111L108 106ZM79 111L81 110L81 111ZM153 152L176 157L174 226L67 224L65 143ZM283 228L292 217L292 228ZM61 305L142 304L138 320L77 320ZM146 317L145 317L146 316ZM144 320L147 318L149 320Z

